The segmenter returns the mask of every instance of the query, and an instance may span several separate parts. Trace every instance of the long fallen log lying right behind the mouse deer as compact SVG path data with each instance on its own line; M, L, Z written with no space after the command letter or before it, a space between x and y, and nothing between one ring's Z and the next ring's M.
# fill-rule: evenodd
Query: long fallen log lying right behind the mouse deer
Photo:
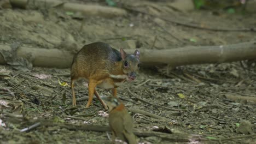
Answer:
M9 45L0 45L0 52L11 51ZM133 49L126 49L133 53ZM221 45L221 46L186 46L168 50L139 49L142 65L165 65L171 67L189 64L225 63L256 58L256 41ZM74 54L58 49L39 49L20 46L17 56L32 59L36 67L69 68ZM31 58L32 56L32 58ZM0 55L0 64L6 64L3 55Z

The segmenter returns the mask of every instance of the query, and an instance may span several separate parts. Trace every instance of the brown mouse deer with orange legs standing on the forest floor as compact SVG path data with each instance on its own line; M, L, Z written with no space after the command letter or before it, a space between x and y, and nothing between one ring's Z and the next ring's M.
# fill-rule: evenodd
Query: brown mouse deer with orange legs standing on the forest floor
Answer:
M79 78L84 78L88 82L89 90L86 107L90 106L95 94L102 106L107 109L107 105L101 100L96 87L112 89L112 95L117 97L117 87L121 83L136 79L139 63L138 50L135 50L133 55L128 55L122 48L119 52L102 42L85 45L74 56L71 66L72 104L76 105L74 82Z

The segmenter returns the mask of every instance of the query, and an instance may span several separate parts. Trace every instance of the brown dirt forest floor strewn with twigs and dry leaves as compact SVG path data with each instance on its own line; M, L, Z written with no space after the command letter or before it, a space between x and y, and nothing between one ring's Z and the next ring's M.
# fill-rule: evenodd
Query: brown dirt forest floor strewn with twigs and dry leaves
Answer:
M106 5L103 1L72 2ZM201 26L239 29L256 25L255 13L179 11L168 7L170 3L129 1L134 9ZM256 40L255 32L207 31L132 11L122 17L81 19L80 15L56 9L1 9L0 26L0 44L73 52L95 41L104 41L118 50L120 47L160 50ZM1 143L111 142L109 131L83 129L85 125L108 126L108 111L97 99L89 109L85 109L86 98L72 107L69 73L69 68L33 67L25 71L15 65L0 65ZM75 92L77 98L86 97L86 83L77 82ZM98 92L110 95L108 90L98 89ZM237 99L256 98L255 61L187 65L168 73L166 68L142 67L136 81L120 86L118 95L128 108L165 118L130 112L135 130L168 134L168 138L153 132L137 136L141 143L256 143L256 101ZM38 127L20 132L38 122Z

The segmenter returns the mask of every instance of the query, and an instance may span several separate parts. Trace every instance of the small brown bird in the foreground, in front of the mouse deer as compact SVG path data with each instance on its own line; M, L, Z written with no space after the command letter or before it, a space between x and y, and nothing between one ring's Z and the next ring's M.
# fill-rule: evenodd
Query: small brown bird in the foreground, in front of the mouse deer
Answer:
M102 97L109 109L109 126L112 131L112 142L115 138L123 140L129 144L137 143L133 134L132 117L128 113L120 99L115 97Z

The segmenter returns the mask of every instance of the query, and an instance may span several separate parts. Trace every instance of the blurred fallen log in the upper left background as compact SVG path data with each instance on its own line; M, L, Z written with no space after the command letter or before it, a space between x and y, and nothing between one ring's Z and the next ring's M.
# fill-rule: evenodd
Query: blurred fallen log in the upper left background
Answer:
M127 14L127 11L121 8L93 4L69 3L58 0L10 0L10 2L13 7L22 9L60 8L66 11L80 12L85 16L115 17Z

